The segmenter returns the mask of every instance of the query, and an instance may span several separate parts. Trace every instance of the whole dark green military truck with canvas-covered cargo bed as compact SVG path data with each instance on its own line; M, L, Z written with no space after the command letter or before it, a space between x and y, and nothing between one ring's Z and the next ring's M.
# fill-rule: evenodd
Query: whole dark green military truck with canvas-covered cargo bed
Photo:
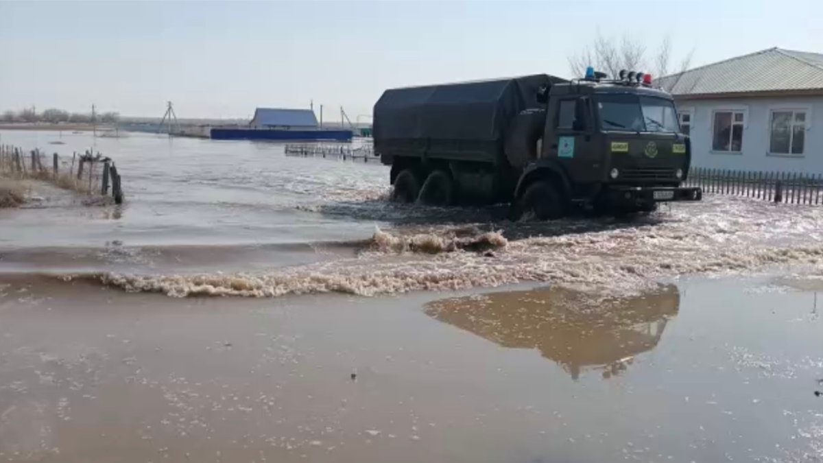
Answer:
M702 197L681 186L691 146L672 96L639 72L390 89L374 105L374 151L392 166L392 199L408 203L510 203L514 217L554 219Z

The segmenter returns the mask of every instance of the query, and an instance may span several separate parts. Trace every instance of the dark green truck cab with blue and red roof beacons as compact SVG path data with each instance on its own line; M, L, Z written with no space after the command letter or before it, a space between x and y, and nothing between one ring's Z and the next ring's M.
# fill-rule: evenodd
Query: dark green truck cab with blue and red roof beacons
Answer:
M636 212L701 199L700 189L680 186L691 146L680 133L672 96L640 76L621 72L620 79L606 80L590 74L543 90L545 129L537 158L515 192L523 208L548 217L570 203ZM528 189L537 189L538 180L551 185L532 197Z

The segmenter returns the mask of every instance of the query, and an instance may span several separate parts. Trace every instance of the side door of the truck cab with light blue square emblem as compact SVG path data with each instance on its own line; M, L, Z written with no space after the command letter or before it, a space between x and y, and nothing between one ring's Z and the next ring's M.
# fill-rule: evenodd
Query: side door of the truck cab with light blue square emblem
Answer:
M594 137L591 103L584 96L560 99L549 156L556 157L575 182L601 180L602 161Z

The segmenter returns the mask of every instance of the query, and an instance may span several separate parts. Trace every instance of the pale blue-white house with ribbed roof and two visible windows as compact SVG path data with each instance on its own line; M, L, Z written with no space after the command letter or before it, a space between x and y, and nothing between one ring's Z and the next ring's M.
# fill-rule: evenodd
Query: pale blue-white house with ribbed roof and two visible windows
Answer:
M692 166L823 173L823 54L766 49L658 79Z

